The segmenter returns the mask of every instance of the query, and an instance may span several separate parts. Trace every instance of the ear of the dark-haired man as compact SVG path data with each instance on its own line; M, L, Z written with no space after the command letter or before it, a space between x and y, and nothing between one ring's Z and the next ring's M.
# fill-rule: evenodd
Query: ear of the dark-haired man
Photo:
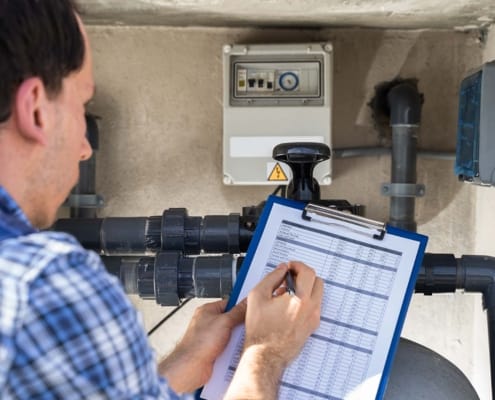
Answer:
M40 78L29 78L17 89L14 115L19 133L27 140L45 145L49 120L49 101Z

